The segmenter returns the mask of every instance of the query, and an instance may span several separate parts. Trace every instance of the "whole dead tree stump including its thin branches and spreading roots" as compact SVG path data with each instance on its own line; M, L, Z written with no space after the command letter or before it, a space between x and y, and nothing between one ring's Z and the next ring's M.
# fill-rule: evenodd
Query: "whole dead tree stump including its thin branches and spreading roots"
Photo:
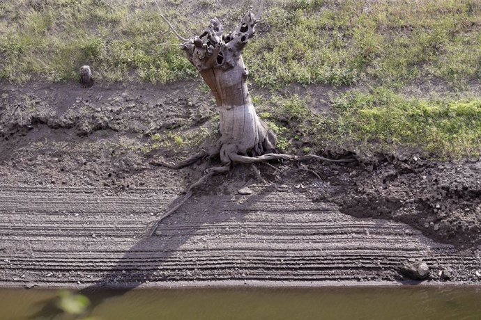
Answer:
M332 160L319 157L314 154L296 156L291 154L275 153L275 134L262 122L254 109L252 99L245 83L247 67L245 67L242 50L250 38L254 36L255 26L261 17L264 1L257 16L251 12L243 17L235 31L224 34L224 29L219 19L211 19L211 23L203 33L194 38L185 39L175 31L171 24L161 14L162 18L174 31L183 45L190 63L199 70L204 81L207 83L217 102L220 113L220 133L222 136L208 151L194 154L189 159L171 165L162 161L152 161L155 166L167 166L168 168L182 168L194 163L205 156L220 155L222 166L213 167L199 181L192 184L186 191L184 199L171 208L167 213L160 216L153 226L149 236L155 232L155 228L163 218L176 211L192 195L192 189L204 183L206 179L215 173L226 173L233 163L265 162L273 159L288 161L320 160L330 162L351 162L353 159ZM160 11L160 8L159 8ZM255 168L259 175L259 171Z

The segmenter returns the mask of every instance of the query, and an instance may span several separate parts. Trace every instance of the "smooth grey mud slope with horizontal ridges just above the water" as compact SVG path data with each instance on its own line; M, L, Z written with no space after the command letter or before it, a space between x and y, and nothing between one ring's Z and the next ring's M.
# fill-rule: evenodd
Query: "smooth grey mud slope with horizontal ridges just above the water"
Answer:
M295 188L213 188L143 240L151 212L175 195L137 189L0 189L0 285L85 287L168 282L404 281L402 264L422 259L429 279L477 281L478 250L430 241L403 223L342 214ZM233 188L233 189L230 189Z

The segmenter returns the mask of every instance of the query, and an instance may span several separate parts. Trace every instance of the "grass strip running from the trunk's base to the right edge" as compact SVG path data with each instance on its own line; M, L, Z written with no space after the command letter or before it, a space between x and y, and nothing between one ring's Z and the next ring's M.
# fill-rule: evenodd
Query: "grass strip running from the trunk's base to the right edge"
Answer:
M310 98L275 94L259 116L287 152L349 148L359 153L413 150L425 157L460 159L481 153L481 99L409 98L393 90L351 90L333 97L330 113L313 113Z

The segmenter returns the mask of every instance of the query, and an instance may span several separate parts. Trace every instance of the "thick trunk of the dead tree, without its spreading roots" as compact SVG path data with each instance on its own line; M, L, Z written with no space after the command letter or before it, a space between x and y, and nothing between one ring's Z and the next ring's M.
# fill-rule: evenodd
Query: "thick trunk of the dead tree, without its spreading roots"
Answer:
M247 13L235 31L224 35L217 18L182 49L215 97L220 113L220 133L211 154L220 154L222 163L239 162L236 155L256 157L272 153L275 134L254 109L245 83L248 75L241 52L254 36L259 19Z

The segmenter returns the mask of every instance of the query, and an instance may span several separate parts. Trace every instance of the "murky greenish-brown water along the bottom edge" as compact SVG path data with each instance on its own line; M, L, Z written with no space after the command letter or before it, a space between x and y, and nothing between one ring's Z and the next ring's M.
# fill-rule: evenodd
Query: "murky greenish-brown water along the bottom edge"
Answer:
M72 319L55 290L0 290L0 319ZM93 319L481 319L481 287L136 289L96 291ZM40 317L38 314L43 314ZM92 319L92 318L89 318Z

